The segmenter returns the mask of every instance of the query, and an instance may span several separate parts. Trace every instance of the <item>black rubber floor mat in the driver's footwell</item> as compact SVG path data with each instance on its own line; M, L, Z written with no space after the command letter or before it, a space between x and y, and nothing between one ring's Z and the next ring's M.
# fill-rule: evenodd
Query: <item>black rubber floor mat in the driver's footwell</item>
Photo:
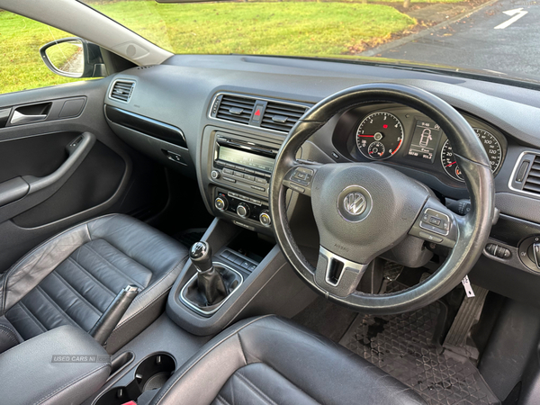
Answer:
M339 343L409 385L430 405L500 404L473 363L448 351L439 354L440 347L437 353L441 311L446 313L443 304L434 302L399 315L358 314Z

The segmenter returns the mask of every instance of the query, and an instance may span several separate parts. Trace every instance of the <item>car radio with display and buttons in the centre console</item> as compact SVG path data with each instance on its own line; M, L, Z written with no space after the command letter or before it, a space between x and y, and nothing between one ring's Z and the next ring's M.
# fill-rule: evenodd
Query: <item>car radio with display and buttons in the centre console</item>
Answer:
M267 198L276 154L275 148L218 136L211 178Z

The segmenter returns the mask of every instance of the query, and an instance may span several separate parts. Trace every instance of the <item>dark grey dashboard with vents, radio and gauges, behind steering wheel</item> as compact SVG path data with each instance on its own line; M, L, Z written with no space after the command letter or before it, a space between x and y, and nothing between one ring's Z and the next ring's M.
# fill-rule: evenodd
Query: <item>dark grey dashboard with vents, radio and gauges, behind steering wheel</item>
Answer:
M117 81L132 84L128 102L111 98ZM294 120L339 90L385 81L436 94L471 124L490 157L500 211L472 280L491 291L536 300L540 266L529 246L540 236L536 90L322 60L175 56L160 66L114 76L105 115L133 148L196 178L214 216L272 235L267 209L273 159ZM374 100L341 112L297 157L388 165L428 185L446 203L469 197L452 145L437 122L399 104ZM291 224L303 228L300 243L317 246L309 198L297 193L287 198Z

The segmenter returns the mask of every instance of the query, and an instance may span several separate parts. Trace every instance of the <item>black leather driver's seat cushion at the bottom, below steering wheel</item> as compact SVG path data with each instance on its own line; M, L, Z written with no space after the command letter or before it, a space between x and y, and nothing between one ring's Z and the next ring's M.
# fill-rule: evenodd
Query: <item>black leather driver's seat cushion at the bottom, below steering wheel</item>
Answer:
M419 395L327 338L275 316L213 338L152 405L425 404Z

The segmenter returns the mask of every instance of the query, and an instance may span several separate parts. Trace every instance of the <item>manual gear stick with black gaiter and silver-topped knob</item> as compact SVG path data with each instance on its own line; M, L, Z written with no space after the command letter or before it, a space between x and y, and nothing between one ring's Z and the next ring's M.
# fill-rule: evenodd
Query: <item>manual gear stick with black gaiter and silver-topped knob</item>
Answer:
M227 288L211 263L211 247L207 242L197 242L189 250L189 257L197 270L197 288L206 298L208 305L227 297Z

